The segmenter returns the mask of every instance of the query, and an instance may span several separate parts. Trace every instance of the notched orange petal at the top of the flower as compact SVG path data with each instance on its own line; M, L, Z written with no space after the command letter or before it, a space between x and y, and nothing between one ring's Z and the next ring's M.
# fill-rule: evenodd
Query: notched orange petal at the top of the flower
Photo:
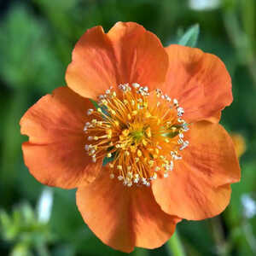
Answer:
M84 33L67 67L67 85L94 98L110 86L139 83L154 89L166 78L168 56L160 40L143 26L118 22L106 34L102 26Z

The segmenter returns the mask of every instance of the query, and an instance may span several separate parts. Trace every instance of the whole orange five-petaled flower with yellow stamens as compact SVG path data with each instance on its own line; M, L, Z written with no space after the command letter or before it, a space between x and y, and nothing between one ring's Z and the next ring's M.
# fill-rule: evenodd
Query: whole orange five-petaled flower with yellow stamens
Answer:
M240 168L218 125L232 102L218 57L165 49L143 26L119 22L84 33L66 79L20 120L24 160L41 183L79 188L79 211L104 243L160 247L182 218L224 211Z

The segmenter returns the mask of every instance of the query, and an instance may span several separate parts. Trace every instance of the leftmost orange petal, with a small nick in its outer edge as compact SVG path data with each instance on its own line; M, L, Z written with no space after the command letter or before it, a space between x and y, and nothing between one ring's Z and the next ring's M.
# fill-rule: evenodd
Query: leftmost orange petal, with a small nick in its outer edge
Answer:
M39 182L72 189L93 181L102 163L92 164L85 153L84 124L88 99L68 87L42 97L20 119L29 137L22 146L25 164Z

